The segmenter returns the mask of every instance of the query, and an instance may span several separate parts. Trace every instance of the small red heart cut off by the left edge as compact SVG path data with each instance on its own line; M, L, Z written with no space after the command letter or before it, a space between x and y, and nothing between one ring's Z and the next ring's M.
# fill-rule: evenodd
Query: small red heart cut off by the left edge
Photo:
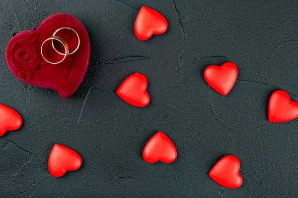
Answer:
M21 127L22 117L12 108L0 104L0 136L6 131L14 131Z

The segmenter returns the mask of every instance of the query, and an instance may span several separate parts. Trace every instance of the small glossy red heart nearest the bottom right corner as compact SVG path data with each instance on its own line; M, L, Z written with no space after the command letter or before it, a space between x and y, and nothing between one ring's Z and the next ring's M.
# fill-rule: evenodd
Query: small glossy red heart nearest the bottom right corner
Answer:
M215 164L209 176L218 184L230 188L239 188L242 176L239 173L240 161L233 155L227 155Z

